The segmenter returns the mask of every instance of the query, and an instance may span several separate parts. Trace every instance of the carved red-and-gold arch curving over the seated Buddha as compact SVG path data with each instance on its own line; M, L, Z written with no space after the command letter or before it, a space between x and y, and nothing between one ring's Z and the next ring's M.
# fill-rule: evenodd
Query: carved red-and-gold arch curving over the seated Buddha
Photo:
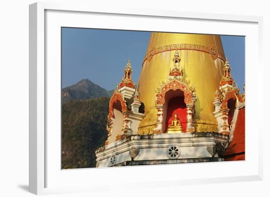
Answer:
M184 92L184 102L186 104L193 103L192 100L192 92L189 90L189 86L183 82L178 82L178 81L171 81L168 84L165 84L162 88L160 93L157 95L157 104L158 105L163 105L165 103L165 94L169 90L177 90L180 89Z

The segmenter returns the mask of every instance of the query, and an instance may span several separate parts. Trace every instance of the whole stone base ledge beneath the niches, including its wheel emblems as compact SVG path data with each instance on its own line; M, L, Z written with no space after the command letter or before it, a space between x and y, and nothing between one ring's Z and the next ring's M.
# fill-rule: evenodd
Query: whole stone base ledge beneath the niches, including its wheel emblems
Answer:
M219 133L134 135L96 151L98 167L220 161L228 136Z

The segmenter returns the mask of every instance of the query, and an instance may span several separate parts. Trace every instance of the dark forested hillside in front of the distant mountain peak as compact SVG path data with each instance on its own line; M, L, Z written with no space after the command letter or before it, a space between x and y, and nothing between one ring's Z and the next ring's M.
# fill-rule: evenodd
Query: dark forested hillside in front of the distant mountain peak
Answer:
M62 169L95 167L95 150L105 144L109 98L62 104Z

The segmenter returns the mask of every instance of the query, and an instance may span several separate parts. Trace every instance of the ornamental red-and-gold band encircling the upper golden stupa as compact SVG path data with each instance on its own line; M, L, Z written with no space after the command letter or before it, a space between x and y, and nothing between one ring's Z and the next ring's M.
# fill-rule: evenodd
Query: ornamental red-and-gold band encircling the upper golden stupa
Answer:
M219 58L226 61L225 57L223 57L221 54L217 53L216 49L214 47L205 47L202 45L195 45L195 44L171 44L171 45L165 45L158 48L152 48L144 57L144 61L151 61L152 57L156 54L166 52L166 51L173 51L173 50L194 50L194 51L201 51L208 53L212 56L212 58L215 60L216 58Z

